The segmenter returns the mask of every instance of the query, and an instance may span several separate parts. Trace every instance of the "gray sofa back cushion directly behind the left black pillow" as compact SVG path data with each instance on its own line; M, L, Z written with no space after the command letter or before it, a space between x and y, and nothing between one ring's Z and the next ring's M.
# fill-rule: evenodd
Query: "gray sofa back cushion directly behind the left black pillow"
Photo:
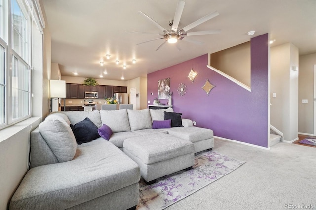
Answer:
M94 123L94 125L96 125L98 128L101 127L100 112L97 110L95 111L65 111L62 113L67 115L71 124L73 125L81 122L86 117L88 117Z

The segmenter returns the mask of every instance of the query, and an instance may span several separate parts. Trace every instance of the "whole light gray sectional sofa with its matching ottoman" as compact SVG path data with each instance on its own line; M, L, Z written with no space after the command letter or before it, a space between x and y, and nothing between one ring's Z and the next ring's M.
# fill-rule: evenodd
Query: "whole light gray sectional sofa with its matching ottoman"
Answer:
M213 131L192 126L153 129L164 111L55 112L30 135L30 170L14 193L15 209L135 209L145 181L189 169L194 153L212 149ZM113 134L77 144L71 126L86 118ZM163 143L162 143L163 142Z

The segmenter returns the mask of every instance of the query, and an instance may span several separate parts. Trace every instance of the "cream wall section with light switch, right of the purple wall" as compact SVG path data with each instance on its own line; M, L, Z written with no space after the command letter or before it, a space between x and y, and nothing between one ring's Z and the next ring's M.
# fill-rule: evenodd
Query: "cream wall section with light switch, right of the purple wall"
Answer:
M284 140L293 141L298 133L298 71L292 66L298 66L298 49L286 43L272 47L270 55L270 124L283 132Z

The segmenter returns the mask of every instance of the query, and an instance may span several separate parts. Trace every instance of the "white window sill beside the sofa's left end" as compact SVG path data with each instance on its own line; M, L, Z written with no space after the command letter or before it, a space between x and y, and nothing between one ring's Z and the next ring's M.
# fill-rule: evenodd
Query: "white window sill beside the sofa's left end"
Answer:
M25 128L29 128L31 132L36 127L38 127L40 123L41 117L31 117L14 125L8 126L0 131L0 142L9 139L10 137L14 136L15 134L17 134Z

